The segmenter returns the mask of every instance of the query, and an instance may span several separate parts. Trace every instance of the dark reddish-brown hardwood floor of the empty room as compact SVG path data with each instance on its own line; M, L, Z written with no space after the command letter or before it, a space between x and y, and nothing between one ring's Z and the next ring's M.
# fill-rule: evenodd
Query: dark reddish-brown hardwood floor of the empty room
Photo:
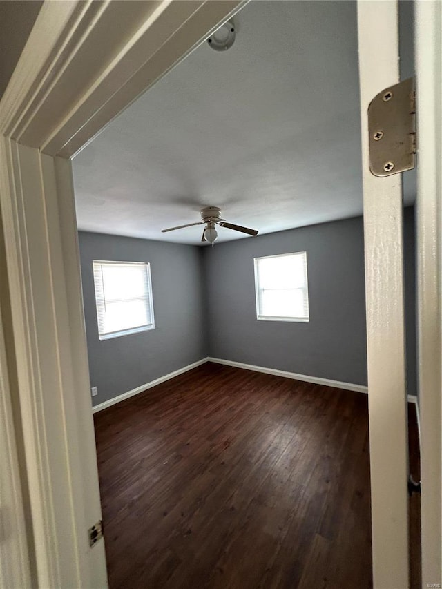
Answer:
M95 433L111 589L372 586L364 394L206 364Z

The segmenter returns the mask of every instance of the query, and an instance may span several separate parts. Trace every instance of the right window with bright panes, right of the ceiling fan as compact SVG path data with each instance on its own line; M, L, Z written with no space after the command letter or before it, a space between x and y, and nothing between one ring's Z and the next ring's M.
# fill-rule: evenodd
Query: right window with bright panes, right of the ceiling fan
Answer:
M309 320L307 252L255 258L255 287L258 319Z

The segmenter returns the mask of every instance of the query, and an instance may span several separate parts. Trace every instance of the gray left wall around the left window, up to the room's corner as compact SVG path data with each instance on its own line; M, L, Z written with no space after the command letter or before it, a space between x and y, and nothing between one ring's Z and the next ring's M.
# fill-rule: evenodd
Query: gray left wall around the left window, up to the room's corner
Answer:
M94 405L207 356L200 248L84 232L79 244ZM150 262L155 329L99 340L92 260Z

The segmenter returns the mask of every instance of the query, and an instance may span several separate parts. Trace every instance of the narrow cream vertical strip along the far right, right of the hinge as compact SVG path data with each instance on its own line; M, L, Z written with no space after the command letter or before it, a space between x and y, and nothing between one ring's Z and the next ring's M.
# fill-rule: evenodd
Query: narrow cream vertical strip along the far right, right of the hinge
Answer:
M416 284L421 421L422 586L442 583L442 3L416 3ZM414 541L414 539L412 539Z

